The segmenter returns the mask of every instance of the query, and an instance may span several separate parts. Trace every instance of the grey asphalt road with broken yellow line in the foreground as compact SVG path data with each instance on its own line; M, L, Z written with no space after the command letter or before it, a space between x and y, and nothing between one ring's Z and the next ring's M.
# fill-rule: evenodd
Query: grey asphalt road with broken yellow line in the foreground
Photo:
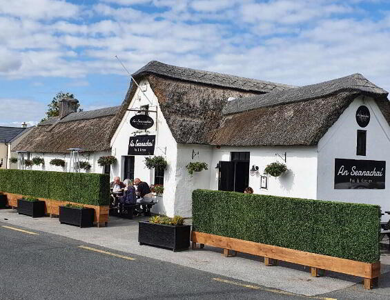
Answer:
M1 300L310 299L55 234L3 226L8 225L0 222Z

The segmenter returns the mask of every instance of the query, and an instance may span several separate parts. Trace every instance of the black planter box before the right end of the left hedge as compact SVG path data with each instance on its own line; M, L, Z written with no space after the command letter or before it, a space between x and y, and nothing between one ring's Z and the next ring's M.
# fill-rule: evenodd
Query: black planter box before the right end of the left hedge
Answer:
M93 208L68 208L59 207L59 222L83 227L93 226L93 217L95 210Z

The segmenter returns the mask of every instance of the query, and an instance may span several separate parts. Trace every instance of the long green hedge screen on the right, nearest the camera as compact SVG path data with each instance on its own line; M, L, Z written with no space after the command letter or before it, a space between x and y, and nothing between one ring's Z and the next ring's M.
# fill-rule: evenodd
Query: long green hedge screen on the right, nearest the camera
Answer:
M242 194L193 192L193 230L373 263L380 207Z

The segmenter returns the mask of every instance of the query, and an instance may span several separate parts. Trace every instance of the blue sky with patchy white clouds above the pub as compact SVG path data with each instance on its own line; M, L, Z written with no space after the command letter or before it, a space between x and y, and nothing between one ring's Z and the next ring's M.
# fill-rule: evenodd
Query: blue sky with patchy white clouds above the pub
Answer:
M295 86L361 73L390 90L390 0L0 0L0 126L57 92L118 106L149 61Z

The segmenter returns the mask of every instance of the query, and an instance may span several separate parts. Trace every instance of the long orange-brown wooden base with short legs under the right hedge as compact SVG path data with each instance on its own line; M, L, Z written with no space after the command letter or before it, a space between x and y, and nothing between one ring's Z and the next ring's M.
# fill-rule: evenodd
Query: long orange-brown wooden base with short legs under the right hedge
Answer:
M380 261L364 263L195 231L191 233L191 241L193 249L196 248L196 243L200 243L201 248L205 244L223 248L226 257L244 252L264 257L266 266L271 266L272 261L273 263L277 263L278 260L287 261L311 267L311 275L314 277L317 277L322 270L329 270L364 278L364 288L367 290L378 286ZM230 255L230 251L233 251L233 255Z

